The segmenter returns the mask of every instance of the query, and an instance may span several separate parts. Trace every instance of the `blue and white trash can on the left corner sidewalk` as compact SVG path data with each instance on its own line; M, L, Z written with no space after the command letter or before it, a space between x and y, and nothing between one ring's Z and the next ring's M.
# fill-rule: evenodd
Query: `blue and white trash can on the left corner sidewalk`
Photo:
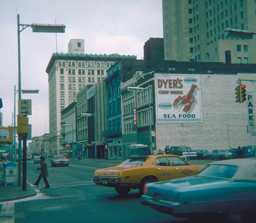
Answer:
M3 163L3 184L6 186L7 184L13 184L16 183L16 177L17 177L17 164L10 161Z

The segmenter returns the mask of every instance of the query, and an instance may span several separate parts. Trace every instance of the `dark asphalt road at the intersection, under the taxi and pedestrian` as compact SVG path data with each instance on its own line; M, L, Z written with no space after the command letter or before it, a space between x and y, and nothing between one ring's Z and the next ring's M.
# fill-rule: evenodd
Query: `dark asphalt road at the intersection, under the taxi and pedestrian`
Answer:
M197 163L190 163L194 162ZM50 189L44 189L41 180L36 196L6 202L5 208L14 212L11 223L188 223L185 219L176 219L141 205L138 190L120 196L113 188L92 183L96 169L116 164L72 162L68 167L47 164ZM39 175L37 167L39 164L27 162L27 181L31 184ZM6 222L10 220L5 219ZM1 223L4 221L0 218Z

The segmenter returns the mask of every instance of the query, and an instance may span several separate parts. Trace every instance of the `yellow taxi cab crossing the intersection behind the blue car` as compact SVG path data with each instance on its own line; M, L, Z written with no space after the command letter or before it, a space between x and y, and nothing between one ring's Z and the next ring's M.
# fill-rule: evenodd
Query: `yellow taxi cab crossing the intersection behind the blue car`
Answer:
M192 176L205 166L191 165L176 155L147 155L138 151L130 159L116 167L96 170L93 182L104 187L113 187L118 194L129 193L138 189L143 194L147 183L167 181L175 178ZM142 154L142 155L141 155Z

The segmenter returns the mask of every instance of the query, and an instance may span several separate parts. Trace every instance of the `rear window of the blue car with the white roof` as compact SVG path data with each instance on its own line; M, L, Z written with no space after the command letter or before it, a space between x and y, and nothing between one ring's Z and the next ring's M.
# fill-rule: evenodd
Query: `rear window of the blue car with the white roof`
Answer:
M237 167L234 167L234 166L209 165L200 173L198 173L197 176L230 179L233 177L236 170L237 170Z

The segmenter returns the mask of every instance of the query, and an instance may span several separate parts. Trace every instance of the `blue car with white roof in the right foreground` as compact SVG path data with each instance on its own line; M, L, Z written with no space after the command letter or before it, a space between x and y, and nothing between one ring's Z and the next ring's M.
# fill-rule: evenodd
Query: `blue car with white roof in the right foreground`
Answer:
M145 185L141 203L178 218L220 213L251 218L256 211L255 166L255 158L213 162L196 175Z

